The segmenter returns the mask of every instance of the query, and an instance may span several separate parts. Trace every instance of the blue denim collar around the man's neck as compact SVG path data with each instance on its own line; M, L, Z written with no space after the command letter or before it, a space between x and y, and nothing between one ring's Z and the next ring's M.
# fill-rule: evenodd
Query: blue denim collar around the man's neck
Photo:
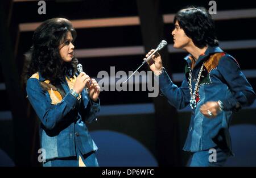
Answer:
M207 57L213 53L218 53L218 52L223 52L222 49L220 47L208 47L207 50L205 51L205 53L201 54L199 56L199 59L197 59L195 67L201 63L201 61L204 61L205 59L207 59ZM184 57L184 60L187 61L188 65L191 66L191 60L192 60L192 55L189 54L186 57Z

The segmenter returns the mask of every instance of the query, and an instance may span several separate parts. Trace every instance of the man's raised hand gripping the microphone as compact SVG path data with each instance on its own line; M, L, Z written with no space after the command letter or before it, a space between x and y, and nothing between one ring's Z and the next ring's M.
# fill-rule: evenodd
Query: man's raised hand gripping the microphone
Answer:
M146 58L144 58L143 60L146 60L147 57L150 56L151 53L154 51L155 49L151 49L150 52L147 53ZM150 66L151 71L153 71L154 73L162 71L163 69L162 59L158 52L152 55L151 59L147 61L147 64Z

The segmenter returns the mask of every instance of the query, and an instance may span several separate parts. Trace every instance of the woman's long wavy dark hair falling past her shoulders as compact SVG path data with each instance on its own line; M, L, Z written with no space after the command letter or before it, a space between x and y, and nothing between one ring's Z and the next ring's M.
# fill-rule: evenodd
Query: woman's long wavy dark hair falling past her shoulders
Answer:
M40 72L42 77L53 83L63 78L64 74L73 76L76 73L77 59L73 57L71 62L65 63L59 53L59 45L67 38L69 31L75 40L76 31L65 18L48 19L36 28L32 46L25 54L24 83L36 72Z

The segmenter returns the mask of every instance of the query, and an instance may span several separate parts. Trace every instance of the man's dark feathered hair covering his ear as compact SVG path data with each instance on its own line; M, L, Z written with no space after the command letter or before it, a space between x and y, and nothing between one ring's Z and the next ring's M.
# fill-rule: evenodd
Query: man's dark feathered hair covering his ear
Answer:
M185 7L175 15L176 21L197 47L218 46L214 21L204 7Z

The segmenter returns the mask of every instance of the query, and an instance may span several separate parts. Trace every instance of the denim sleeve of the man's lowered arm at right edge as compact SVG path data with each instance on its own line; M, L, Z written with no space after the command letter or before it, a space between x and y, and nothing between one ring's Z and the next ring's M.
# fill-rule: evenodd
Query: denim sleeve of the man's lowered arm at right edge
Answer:
M237 111L242 106L253 104L255 100L253 88L232 56L225 55L221 57L217 69L233 93L232 97L222 101L224 110Z

